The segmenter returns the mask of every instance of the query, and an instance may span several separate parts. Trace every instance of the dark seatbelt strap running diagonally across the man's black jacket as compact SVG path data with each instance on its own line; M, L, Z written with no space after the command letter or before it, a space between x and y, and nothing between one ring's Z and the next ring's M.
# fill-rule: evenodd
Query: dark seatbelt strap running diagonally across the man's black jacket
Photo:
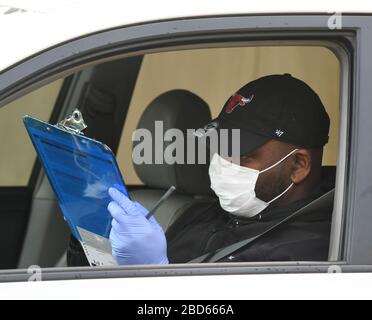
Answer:
M195 259L190 260L188 263L217 262L217 261L219 261L219 260L221 260L221 259L223 259L227 256L230 256L231 254L233 254L237 250L247 246L248 244L250 244L253 241L257 240L258 238L262 237L263 235L265 235L265 234L271 232L272 230L278 228L279 226L281 226L282 224L291 220L295 216L307 214L310 211L316 211L316 210L322 209L324 206L329 204L330 201L332 201L332 199L334 197L334 192L335 192L335 189L332 189L332 190L328 191L324 195L322 195L319 198L315 199L314 201L308 203L306 206L304 206L301 209L295 211L294 213L292 213L288 217L279 221L278 223L271 226L270 228L268 228L267 230L263 231L262 233L260 233L259 235L255 236L255 237L233 243L233 244L231 244L227 247L218 249L218 250L213 251L213 252L206 253L206 254L204 254L200 257L197 257Z

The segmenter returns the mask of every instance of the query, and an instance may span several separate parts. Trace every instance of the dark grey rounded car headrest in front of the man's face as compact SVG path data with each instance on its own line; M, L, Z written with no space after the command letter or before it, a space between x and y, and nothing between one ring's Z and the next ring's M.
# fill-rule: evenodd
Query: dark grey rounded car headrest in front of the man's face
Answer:
M161 121L157 122L156 134L155 121ZM209 164L189 164L190 162L187 162L188 154L190 155L192 152L190 152L190 147L189 150L186 147L188 144L187 140L194 139L195 148L193 150L196 154L195 163L197 163L197 139L192 134L187 135L187 129L198 129L210 121L211 114L208 104L189 91L172 90L161 94L153 100L143 113L134 135L136 137L141 132L139 129L147 129L150 131L152 137L152 148L148 148L150 150L142 148L143 153L147 151L151 155L152 158L150 158L150 161L145 161L147 163L141 164L134 163L137 175L142 182L152 188L168 189L174 185L178 191L183 193L210 195ZM161 126L163 126L162 130ZM162 136L169 129L179 129L183 133L181 136L183 136L184 141L177 135L177 138L173 136L173 139L164 139L170 141L164 141ZM175 131L171 130L170 132ZM144 139L138 138L141 140L136 141L137 138L133 142L133 154L136 154L134 152L135 149L141 149L142 146L140 144L144 143ZM166 154L177 155L177 161L174 164L171 161L164 160L164 151L167 150L168 146L169 149ZM169 152L171 149L173 149L173 152ZM183 164L179 159L183 160ZM155 163L155 160L158 161Z

